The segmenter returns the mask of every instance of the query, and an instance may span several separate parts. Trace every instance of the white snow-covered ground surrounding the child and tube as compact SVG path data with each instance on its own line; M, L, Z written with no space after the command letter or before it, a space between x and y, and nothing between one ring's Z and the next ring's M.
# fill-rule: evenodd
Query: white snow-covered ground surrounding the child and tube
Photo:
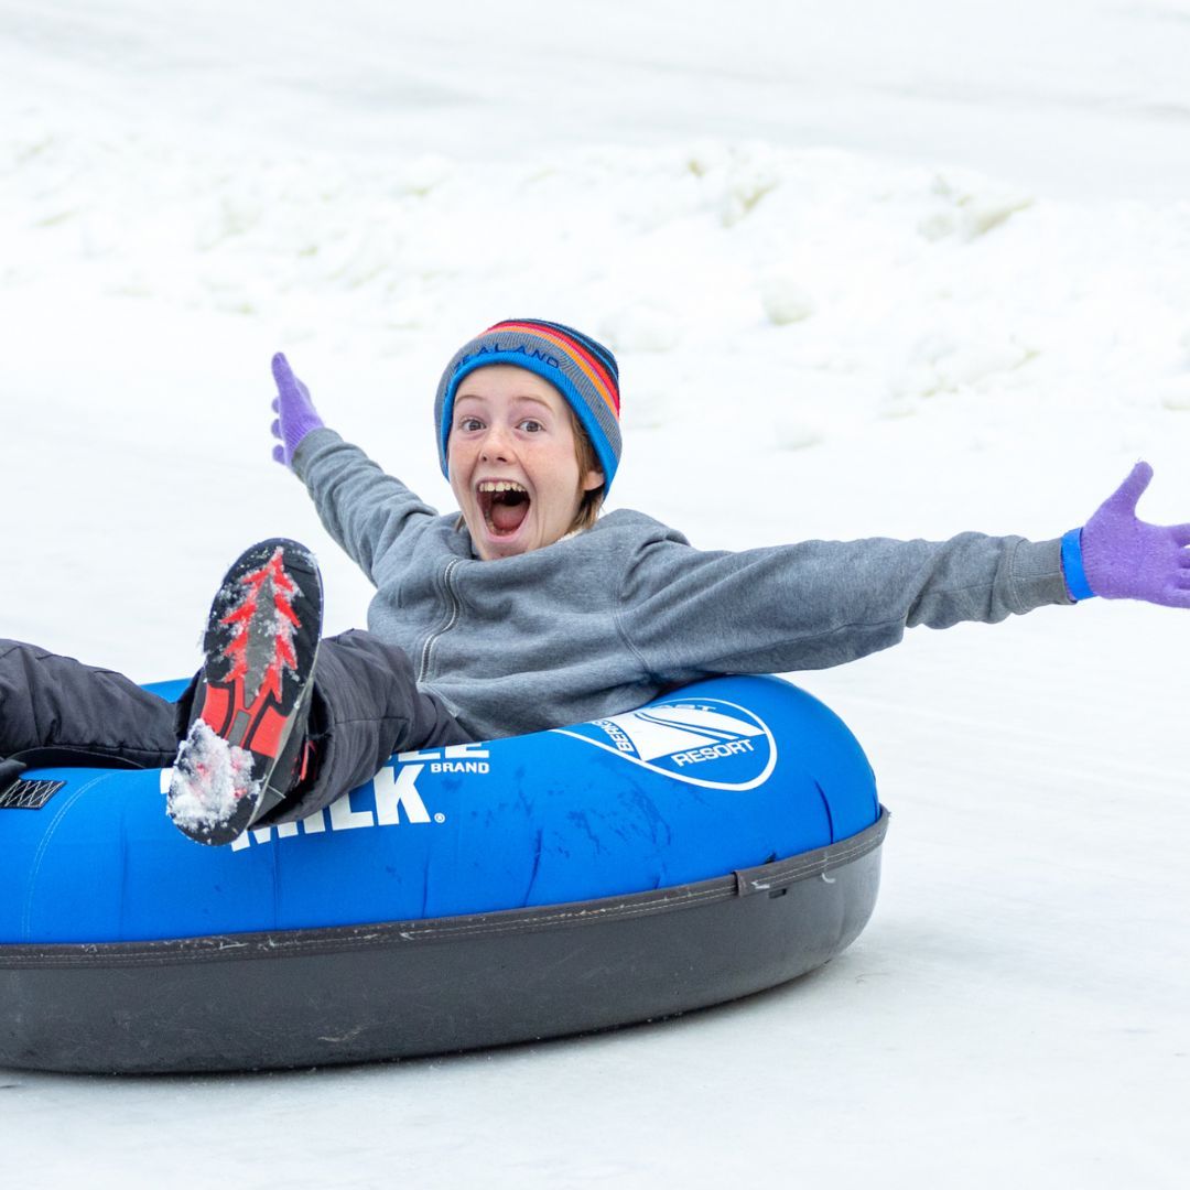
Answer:
M0 633L186 672L277 533L362 622L269 357L445 505L439 369L514 314L616 349L614 502L699 545L1054 537L1138 457L1190 520L1188 61L1184 0L0 0ZM0 1071L5 1182L1180 1185L1188 643L1089 603L802 675L894 814L808 978L401 1065Z

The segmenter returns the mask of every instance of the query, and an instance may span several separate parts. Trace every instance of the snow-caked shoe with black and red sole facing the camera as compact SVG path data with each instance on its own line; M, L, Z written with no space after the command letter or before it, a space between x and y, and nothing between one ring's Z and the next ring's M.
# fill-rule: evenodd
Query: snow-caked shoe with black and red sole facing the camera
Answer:
M321 628L322 583L303 545L271 538L232 563L211 605L167 798L190 839L232 843L303 776Z

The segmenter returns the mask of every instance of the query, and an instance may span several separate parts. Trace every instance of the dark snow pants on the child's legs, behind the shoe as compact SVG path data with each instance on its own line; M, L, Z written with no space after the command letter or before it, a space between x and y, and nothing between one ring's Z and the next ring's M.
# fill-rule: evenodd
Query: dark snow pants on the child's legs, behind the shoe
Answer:
M113 670L0 640L0 789L25 768L164 769L189 728L198 676L177 703ZM472 737L413 663L368 632L319 645L307 733L313 776L261 820L292 822L374 777L393 752L466 744Z

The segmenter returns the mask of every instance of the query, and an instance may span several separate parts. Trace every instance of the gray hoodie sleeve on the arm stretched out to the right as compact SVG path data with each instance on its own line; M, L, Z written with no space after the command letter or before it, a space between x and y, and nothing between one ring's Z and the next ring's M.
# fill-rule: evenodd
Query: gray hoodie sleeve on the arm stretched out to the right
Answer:
M1058 540L982 533L738 553L658 536L624 572L620 628L646 671L674 682L825 669L888 649L919 624L995 624L1069 603L1059 558Z

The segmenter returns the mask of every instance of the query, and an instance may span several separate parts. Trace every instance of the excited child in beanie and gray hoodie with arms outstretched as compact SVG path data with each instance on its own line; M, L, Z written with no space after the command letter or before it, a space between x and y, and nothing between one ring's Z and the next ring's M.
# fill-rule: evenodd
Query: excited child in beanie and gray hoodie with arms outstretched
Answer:
M169 796L175 822L203 843L303 818L394 751L619 714L715 674L837 665L896 644L907 626L995 622L1091 595L1190 607L1190 526L1135 516L1145 463L1060 540L962 533L707 552L641 513L596 519L620 461L619 374L575 330L499 322L447 364L434 418L459 516L325 428L283 356L274 377L275 457L376 595L368 632L319 643L305 549L262 543L228 571L203 671L178 707L190 728ZM151 695L27 650L0 645L0 754L21 751L6 727L20 684L10 675L23 672L33 707L67 678L80 704L99 706L73 728L75 746L173 759L173 719ZM15 739L35 752L71 740L31 732Z

